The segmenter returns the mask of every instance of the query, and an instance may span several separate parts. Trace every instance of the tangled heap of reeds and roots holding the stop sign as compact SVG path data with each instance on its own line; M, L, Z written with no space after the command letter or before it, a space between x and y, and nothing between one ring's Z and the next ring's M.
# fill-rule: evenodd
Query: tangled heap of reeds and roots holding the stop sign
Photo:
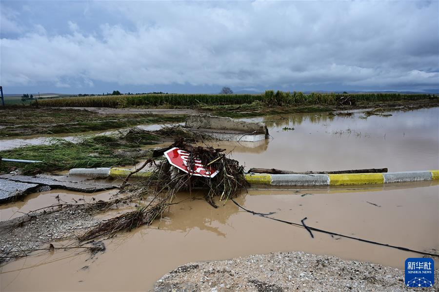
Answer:
M121 230L129 231L140 225L150 225L155 219L161 218L163 212L171 205L177 204L174 203L174 199L179 191L205 189L205 200L213 207L218 208L215 202L216 198L226 202L228 199L236 197L243 188L246 188L244 167L240 166L238 161L227 158L226 154L221 153L224 149L192 146L180 139L171 146L156 151L156 156L160 154L166 156L170 151L177 151L174 158L177 158L176 156L181 153L181 161L185 163L176 167L169 159L158 164L152 159L146 161L143 167L147 165L152 167L152 174L148 179L122 187L126 187L125 192L131 192L130 198L125 198L123 201L138 200L137 209L101 222L98 226L79 236L80 241L111 236ZM144 198L146 200L143 200ZM122 201L122 199L117 200L101 204L109 207ZM100 209L103 208L100 207Z

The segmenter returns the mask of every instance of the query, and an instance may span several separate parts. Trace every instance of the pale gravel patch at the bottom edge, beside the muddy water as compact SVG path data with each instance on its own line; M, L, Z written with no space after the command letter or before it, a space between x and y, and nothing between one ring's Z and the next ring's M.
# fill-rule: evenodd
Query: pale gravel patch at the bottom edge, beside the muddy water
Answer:
M433 288L439 291L439 270ZM155 285L164 291L421 291L404 286L404 271L369 262L342 260L300 251L198 262L165 274Z

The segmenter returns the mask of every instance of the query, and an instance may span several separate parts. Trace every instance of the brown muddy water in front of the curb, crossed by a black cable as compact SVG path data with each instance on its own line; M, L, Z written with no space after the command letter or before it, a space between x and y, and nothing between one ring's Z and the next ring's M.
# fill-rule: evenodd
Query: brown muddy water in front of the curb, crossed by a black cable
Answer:
M300 222L308 217L307 225L320 229L438 250L438 191L438 184L430 182L385 188L252 190L237 201L248 209L275 212L272 216L279 219ZM232 202L213 209L188 195L178 199L184 198L166 214L160 229L157 223L120 234L106 241L107 251L98 258L59 251L7 264L1 269L1 291L144 291L165 272L191 261L271 251L303 250L399 268L405 258L417 256L317 232L311 238L302 228L251 215Z

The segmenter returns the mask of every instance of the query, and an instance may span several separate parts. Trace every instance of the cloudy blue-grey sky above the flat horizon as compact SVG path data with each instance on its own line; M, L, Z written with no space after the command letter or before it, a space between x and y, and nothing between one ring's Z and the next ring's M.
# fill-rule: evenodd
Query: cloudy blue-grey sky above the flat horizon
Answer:
M5 1L7 93L439 90L438 1Z

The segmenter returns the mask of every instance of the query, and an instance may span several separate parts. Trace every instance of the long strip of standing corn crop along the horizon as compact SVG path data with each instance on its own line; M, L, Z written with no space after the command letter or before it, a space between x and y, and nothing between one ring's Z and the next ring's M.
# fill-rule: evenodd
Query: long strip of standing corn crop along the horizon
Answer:
M83 106L83 107L133 107L133 106L197 106L251 104L259 101L268 106L285 105L336 105L340 97L351 96L357 102L392 102L403 100L437 99L430 94L399 93L317 93L267 90L263 94L147 94L113 95L46 99L38 101L40 106Z

